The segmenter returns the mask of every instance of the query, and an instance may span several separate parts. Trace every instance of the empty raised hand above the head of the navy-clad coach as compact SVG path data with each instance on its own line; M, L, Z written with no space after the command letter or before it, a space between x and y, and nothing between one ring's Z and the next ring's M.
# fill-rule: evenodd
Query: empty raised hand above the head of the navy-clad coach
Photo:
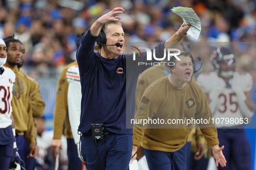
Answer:
M121 16L115 16L116 14L123 13L124 9L121 7L114 8L109 13L105 14L104 16L101 16L99 19L97 19L97 22L101 25L109 22L109 21L118 21L121 19Z

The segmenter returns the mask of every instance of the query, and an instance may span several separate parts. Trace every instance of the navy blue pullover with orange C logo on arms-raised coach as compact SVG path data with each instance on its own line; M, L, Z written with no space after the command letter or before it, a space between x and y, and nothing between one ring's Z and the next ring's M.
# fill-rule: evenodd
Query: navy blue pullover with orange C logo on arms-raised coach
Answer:
M92 123L104 123L104 128L110 132L133 135L133 125L129 123L135 113L138 76L151 65L138 66L138 62L147 62L146 52L142 53L142 57L136 54L135 61L133 61L133 54L122 54L115 59L106 59L100 56L99 52L94 53L94 43L97 38L98 36L91 35L89 29L81 39L81 45L77 51L82 90L78 131L91 133ZM160 43L156 47L156 56L163 55L164 43ZM152 57L150 62L158 61ZM122 71L123 73L118 73Z

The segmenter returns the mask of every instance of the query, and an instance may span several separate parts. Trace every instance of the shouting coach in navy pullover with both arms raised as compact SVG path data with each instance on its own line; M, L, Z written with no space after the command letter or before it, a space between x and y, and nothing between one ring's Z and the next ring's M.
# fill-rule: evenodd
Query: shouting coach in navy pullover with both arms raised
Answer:
M138 76L150 65L126 69L133 54L123 54L121 16L115 16L123 11L117 7L97 19L77 51L82 92L78 131L82 133L81 155L87 170L127 170L132 154L133 129L126 129L126 112L134 115ZM175 42L188 36L188 28L190 25L182 24L171 38L155 47L156 56L163 56L164 48L177 47ZM94 53L96 41L101 50ZM146 52L137 57L141 62L146 58ZM132 81L126 82L129 75L133 75ZM126 106L126 91L132 95L134 106Z

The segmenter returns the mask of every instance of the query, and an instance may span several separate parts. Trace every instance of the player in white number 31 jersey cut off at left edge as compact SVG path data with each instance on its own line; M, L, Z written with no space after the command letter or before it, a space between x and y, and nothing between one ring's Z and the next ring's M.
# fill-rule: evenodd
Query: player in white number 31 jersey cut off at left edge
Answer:
M0 38L0 169L7 170L9 165L16 167L16 163L24 162L20 159L17 152L15 141L15 129L12 116L11 101L13 98L13 85L15 82L15 73L3 66L7 59L7 47L3 39Z

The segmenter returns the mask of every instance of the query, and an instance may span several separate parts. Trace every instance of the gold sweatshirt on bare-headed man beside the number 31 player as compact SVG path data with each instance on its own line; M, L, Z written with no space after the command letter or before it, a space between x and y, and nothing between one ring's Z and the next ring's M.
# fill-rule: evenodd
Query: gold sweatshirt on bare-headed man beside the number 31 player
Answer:
M16 134L24 135L29 144L36 143L33 115L41 117L45 103L39 92L39 85L34 79L27 76L17 66L13 69L13 72L16 75L16 79L13 86L11 105L13 107L12 113Z

